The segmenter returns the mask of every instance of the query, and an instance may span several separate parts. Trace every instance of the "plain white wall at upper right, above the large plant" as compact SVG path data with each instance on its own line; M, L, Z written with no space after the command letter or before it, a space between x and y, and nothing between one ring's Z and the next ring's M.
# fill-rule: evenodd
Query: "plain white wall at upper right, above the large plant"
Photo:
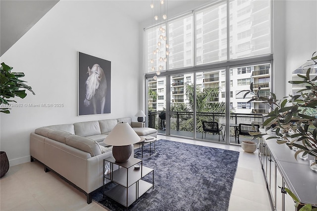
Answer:
M285 75L292 79L292 72L304 64L317 51L317 1L288 0L285 3ZM286 83L286 95L292 85Z

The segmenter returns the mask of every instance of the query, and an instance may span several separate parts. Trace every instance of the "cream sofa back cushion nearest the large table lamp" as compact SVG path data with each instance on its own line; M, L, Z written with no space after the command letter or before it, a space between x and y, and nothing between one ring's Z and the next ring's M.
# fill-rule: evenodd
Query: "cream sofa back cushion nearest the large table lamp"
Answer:
M92 157L101 155L99 144L96 141L86 137L69 135L66 137L66 145L90 153Z

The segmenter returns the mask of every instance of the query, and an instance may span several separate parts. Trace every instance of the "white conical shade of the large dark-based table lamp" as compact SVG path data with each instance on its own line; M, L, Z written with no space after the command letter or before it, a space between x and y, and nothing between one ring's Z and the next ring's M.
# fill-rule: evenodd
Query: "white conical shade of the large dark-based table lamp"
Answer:
M104 143L111 146L126 146L138 143L141 138L127 122L118 122L106 136Z

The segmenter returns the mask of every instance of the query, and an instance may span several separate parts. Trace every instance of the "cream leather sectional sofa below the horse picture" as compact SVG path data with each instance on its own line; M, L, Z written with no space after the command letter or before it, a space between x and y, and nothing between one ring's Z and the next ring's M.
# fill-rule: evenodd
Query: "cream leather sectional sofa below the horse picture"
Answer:
M132 122L130 117L61 124L35 129L30 135L31 162L35 159L87 196L104 184L104 159L112 146L103 143L117 122L128 122L139 136L157 137L157 130Z

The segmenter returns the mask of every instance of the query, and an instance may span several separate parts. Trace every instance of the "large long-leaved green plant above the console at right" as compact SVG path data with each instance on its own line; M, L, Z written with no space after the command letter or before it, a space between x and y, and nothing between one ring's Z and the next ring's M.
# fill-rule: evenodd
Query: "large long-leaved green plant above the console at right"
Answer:
M244 90L247 91L244 97L249 93L254 95L254 98L249 102L261 100L272 108L272 111L264 116L266 118L263 123L265 133L250 132L250 135L254 135L253 139L262 137L267 134L269 129L273 129L275 134L267 134L270 135L267 139L277 139L278 144L286 144L290 149L297 147L299 150L295 153L295 159L300 153L303 153L304 156L307 154L314 156L315 162L313 164L316 164L317 160L317 76L311 78L310 73L311 67L317 64L317 55L315 54L316 52L308 60L310 64L305 66L308 68L306 75L298 74L297 76L301 80L288 82L305 85L296 95L290 95L280 100L276 99L274 93L270 93L269 97L260 96L261 87L255 91L253 83L250 84L250 90ZM296 202L295 206L298 207L300 202L296 196L289 189L285 188L285 190ZM304 210L317 209L312 209L312 205L305 205L300 211Z

